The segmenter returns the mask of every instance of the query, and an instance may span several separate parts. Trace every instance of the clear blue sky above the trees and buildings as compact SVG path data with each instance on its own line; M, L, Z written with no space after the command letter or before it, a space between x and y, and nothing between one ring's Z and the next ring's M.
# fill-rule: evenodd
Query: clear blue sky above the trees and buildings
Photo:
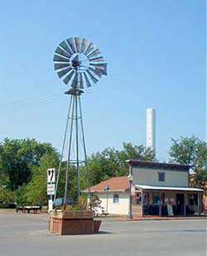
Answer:
M156 151L171 138L205 140L205 0L0 3L0 140L36 138L60 149L66 87L53 70L70 36L98 44L108 76L83 97L88 152L146 142L156 108Z

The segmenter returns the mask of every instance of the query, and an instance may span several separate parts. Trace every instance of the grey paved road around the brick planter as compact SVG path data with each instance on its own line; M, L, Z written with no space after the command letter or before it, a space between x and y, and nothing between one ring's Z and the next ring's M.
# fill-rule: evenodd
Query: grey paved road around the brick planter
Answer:
M0 255L206 256L206 220L105 220L100 234L48 234L46 215L0 212Z

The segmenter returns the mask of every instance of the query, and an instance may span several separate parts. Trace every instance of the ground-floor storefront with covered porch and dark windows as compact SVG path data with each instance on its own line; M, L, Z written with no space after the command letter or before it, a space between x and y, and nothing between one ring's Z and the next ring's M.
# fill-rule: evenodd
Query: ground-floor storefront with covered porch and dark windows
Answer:
M203 191L191 187L134 186L133 215L200 215Z

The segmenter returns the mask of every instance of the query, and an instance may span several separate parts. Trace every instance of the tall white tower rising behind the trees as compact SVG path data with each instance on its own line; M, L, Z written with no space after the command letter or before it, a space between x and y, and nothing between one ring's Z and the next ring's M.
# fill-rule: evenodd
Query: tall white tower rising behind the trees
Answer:
M146 147L151 147L156 151L156 110L147 109L147 131Z

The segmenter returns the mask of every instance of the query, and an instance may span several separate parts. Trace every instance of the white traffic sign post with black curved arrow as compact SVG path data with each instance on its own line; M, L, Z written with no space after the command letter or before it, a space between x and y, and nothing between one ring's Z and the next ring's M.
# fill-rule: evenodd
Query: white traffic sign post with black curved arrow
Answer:
M47 195L50 196L48 200L48 211L53 210L53 196L55 195L55 168L47 169Z

